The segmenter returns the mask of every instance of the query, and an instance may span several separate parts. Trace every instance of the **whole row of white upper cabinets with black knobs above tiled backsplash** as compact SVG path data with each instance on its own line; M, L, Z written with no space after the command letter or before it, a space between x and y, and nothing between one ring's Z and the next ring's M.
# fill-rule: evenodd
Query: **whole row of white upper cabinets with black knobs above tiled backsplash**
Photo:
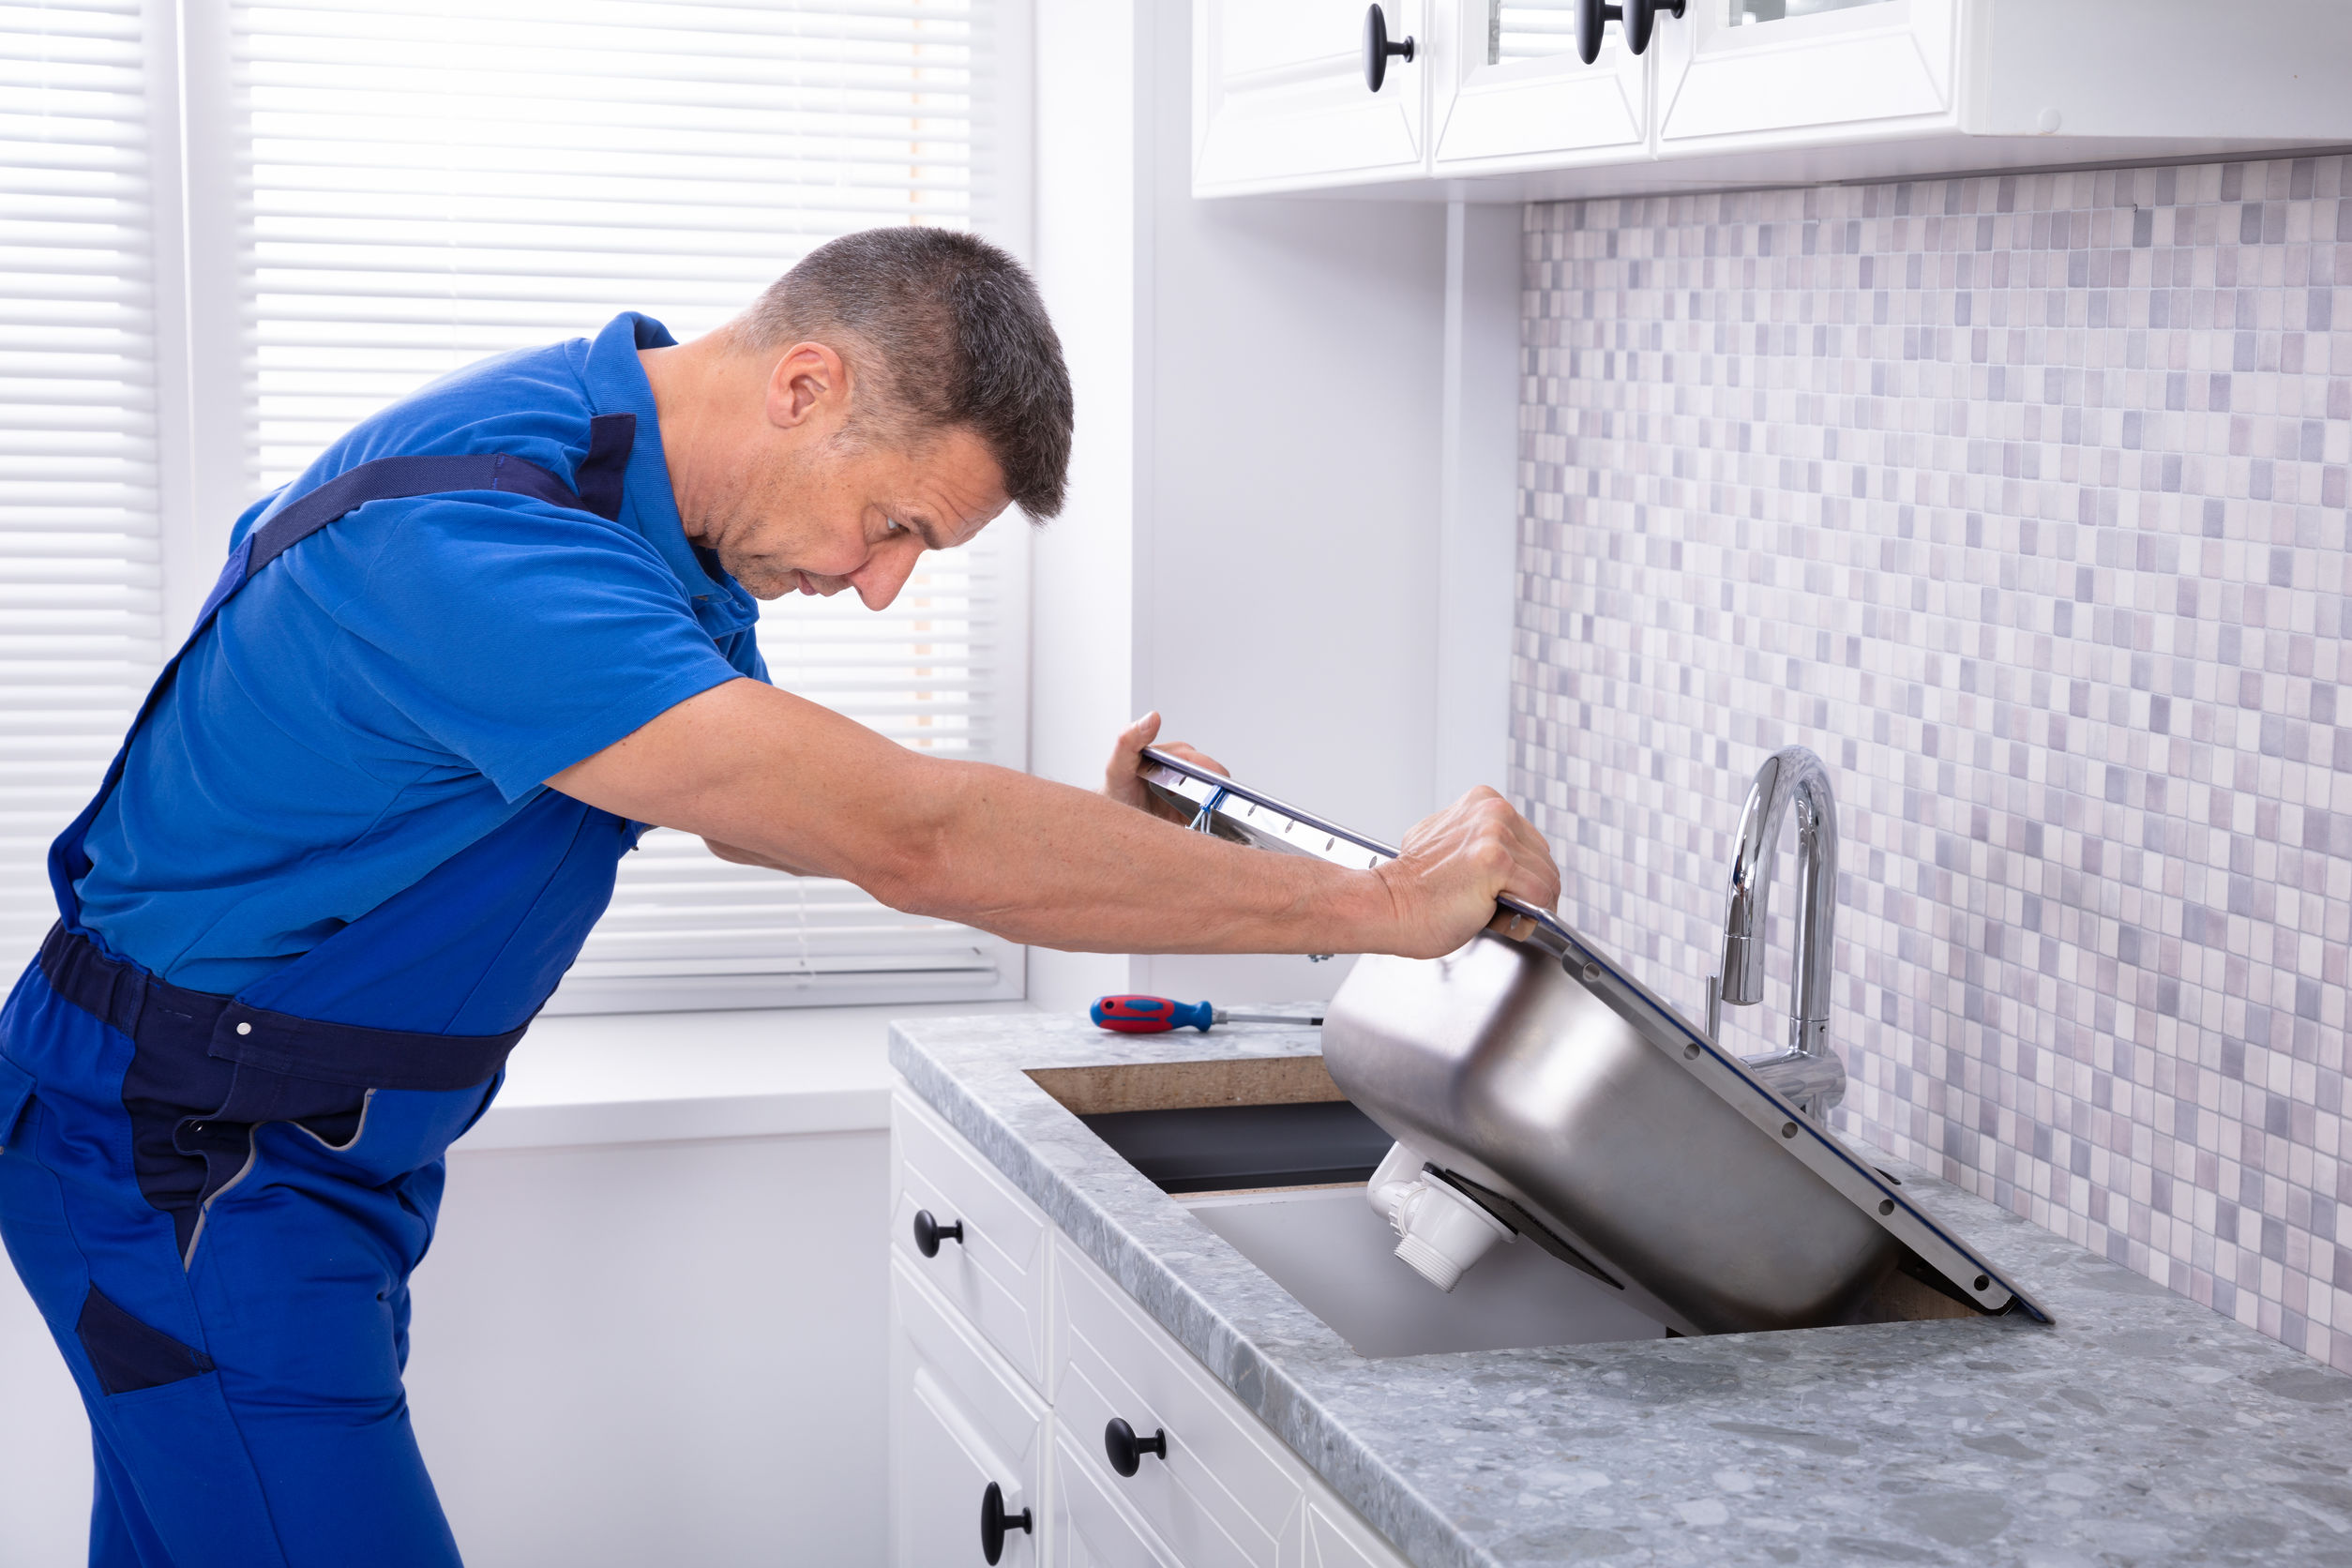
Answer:
M1383 5L1414 59L1371 92L1357 0L1195 0L1195 195L1517 202L2352 141L2352 0Z

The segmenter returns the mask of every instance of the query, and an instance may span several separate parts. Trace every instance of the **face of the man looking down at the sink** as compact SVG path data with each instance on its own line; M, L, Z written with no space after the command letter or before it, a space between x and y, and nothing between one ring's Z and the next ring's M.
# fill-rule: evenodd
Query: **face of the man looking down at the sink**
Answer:
M962 428L913 449L840 433L783 442L746 468L694 531L760 599L856 588L887 609L924 550L969 543L1007 505L997 461Z

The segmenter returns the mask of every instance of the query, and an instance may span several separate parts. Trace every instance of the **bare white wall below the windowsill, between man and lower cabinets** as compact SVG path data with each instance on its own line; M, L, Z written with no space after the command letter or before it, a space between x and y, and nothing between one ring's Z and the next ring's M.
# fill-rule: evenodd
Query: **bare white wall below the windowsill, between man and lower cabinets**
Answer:
M452 1154L409 1408L470 1568L880 1566L889 1133Z

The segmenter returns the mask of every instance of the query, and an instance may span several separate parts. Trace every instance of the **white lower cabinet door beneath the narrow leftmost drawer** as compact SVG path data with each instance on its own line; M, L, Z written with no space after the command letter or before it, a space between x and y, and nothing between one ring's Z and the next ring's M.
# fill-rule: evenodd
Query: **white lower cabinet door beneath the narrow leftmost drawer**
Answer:
M1030 1528L1004 1535L1000 1568L1042 1554L1044 1406L1018 1373L891 1260L891 1563L983 1563L981 1497L997 1488Z

